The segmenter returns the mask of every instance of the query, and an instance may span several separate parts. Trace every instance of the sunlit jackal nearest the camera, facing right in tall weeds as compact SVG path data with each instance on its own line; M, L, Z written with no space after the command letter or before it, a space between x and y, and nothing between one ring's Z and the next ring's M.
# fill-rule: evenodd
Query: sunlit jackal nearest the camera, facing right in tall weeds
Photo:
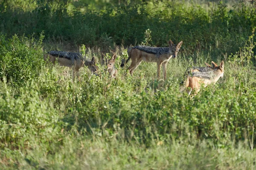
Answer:
M190 95L192 90L194 95L200 91L201 85L207 87L209 84L215 84L218 79L223 77L224 74L224 61L221 61L220 66L212 61L211 71L193 71L193 68L188 68L184 74L184 81L180 83L180 91L187 89ZM188 89L189 88L189 89Z

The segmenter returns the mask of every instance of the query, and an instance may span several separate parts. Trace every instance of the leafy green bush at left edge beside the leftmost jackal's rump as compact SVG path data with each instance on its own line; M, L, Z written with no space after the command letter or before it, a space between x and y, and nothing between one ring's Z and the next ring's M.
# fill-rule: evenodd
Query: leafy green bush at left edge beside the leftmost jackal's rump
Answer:
M44 64L42 40L34 37L18 37L11 39L0 36L0 77L6 77L9 82L22 83L39 75Z

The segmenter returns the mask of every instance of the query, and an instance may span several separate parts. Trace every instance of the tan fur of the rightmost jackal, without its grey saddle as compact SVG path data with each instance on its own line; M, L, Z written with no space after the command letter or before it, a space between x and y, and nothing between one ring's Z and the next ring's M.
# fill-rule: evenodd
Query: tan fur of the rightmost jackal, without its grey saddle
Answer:
M192 76L191 74L189 74L189 71L192 71L192 70L187 69L184 74L184 76L186 77L186 80L185 82L183 82L183 85L180 86L180 91L183 91L184 88L186 88L187 93L191 94L191 92L194 90L194 95L195 95L200 91L201 85L204 85L204 87L207 87L207 85L209 84L215 84L220 77L223 77L224 61L221 61L220 66L218 66L215 62L212 62L212 66L214 67L213 71L203 72L204 74L213 73L214 76L211 79ZM182 86L184 86L184 88Z

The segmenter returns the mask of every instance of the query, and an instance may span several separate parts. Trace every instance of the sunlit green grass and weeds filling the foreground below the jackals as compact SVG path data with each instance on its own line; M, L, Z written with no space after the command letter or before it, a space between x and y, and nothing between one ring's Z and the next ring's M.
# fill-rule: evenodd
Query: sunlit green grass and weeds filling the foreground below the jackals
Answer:
M224 78L190 99L178 85L187 67L210 61L198 58L170 60L166 81L156 63L133 76L116 65L117 79L83 68L72 82L70 69L46 65L18 87L3 81L1 168L254 169L253 65L225 60Z

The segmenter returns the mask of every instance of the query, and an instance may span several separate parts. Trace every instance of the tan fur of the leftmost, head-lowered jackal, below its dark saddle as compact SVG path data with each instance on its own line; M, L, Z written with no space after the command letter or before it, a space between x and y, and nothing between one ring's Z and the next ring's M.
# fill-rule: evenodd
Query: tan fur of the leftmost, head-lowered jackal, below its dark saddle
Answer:
M95 74L96 71L98 70L98 67L95 65L95 58L93 57L91 59L91 61L83 61L83 59L75 59L74 64L71 63L71 61L69 59L66 58L62 58L62 57L56 57L56 56L52 56L50 54L44 54L44 60L48 61L48 62L52 62L53 64L55 64L55 62L58 62L58 64L60 66L65 66L65 67L69 67L72 68L72 77L74 79L74 74L77 74L79 77L79 69L81 67L87 66L87 68L89 68L89 70Z

